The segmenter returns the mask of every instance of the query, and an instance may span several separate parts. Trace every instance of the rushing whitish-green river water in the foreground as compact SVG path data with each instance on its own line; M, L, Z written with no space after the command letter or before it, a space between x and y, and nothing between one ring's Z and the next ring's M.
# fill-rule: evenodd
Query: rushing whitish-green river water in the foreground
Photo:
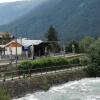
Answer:
M13 100L100 100L100 78L82 79Z

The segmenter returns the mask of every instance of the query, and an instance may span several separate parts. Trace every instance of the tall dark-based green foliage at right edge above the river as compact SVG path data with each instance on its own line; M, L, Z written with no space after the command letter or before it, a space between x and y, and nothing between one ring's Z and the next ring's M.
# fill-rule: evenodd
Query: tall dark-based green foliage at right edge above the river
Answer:
M87 73L89 76L100 77L100 38L90 45L87 54L91 60Z

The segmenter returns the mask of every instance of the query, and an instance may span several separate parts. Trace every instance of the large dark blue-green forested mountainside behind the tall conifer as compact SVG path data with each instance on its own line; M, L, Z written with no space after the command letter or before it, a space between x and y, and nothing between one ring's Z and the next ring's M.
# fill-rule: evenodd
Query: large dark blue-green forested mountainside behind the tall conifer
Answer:
M50 25L67 41L100 34L100 0L48 0L22 18L0 27L0 31L43 39Z

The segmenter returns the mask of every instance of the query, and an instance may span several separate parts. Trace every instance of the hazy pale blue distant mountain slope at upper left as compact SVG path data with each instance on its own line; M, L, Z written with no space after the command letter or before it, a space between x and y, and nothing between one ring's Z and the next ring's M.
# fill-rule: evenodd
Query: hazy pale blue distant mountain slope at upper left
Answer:
M16 20L39 4L36 0L0 3L0 25Z

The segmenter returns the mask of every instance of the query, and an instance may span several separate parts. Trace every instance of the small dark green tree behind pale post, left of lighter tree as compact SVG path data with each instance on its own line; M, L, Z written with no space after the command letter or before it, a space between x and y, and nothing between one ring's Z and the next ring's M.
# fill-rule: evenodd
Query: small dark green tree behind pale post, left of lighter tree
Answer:
M73 46L75 53L79 53L79 44L77 41L71 41L65 48L66 52L73 52Z

